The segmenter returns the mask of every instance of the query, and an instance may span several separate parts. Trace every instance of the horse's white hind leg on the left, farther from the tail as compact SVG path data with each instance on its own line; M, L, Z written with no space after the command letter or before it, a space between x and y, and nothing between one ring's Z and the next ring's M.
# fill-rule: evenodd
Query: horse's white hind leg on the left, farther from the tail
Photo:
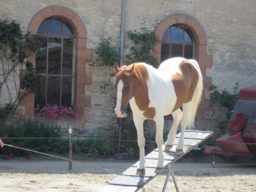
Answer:
M178 110L176 110L172 113L172 117L173 117L172 129L170 130L170 132L168 134L168 139L166 141L164 151L170 150L173 146L174 138L175 138L175 135L176 135L176 132L177 132L178 125L180 124L182 114L183 113L180 109L178 109Z

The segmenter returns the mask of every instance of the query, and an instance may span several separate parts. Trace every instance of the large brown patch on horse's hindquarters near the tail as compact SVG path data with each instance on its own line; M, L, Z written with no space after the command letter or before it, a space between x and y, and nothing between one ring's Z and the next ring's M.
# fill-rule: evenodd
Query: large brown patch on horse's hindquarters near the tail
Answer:
M183 103L192 100L199 79L198 71L190 61L182 60L179 68L182 74L176 73L172 75L172 83L177 96L172 112L180 108Z

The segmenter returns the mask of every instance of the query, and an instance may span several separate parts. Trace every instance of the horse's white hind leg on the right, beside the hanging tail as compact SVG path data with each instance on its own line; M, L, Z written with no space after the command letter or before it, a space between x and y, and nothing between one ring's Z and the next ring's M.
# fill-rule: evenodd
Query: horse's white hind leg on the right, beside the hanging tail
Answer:
M188 112L190 109L190 105L191 105L191 102L183 104L183 116L181 118L181 123L180 123L180 126L181 126L180 140L178 142L178 146L176 147L176 152L175 152L177 155L181 155L184 153L183 152L184 133L185 133L185 129L188 125Z

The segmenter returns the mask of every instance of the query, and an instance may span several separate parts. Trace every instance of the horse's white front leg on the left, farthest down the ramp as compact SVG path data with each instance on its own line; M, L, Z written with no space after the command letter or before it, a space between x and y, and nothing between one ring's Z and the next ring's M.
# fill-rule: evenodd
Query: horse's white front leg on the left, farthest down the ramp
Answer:
M144 133L143 133L143 119L138 118L137 116L133 116L133 121L136 126L137 130L137 135L138 135L138 146L140 148L140 161L139 165L137 167L137 175L141 175L145 173L145 152L144 152L144 147L145 147L145 138L144 138Z

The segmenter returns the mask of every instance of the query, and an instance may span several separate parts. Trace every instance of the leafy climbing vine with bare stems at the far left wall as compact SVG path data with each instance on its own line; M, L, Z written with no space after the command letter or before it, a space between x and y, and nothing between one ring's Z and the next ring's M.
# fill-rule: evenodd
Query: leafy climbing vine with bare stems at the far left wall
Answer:
M29 33L23 34L17 22L0 22L0 99L8 100L0 108L1 124L15 112L24 96L36 90L34 69L26 58L38 52L39 46L40 41Z

